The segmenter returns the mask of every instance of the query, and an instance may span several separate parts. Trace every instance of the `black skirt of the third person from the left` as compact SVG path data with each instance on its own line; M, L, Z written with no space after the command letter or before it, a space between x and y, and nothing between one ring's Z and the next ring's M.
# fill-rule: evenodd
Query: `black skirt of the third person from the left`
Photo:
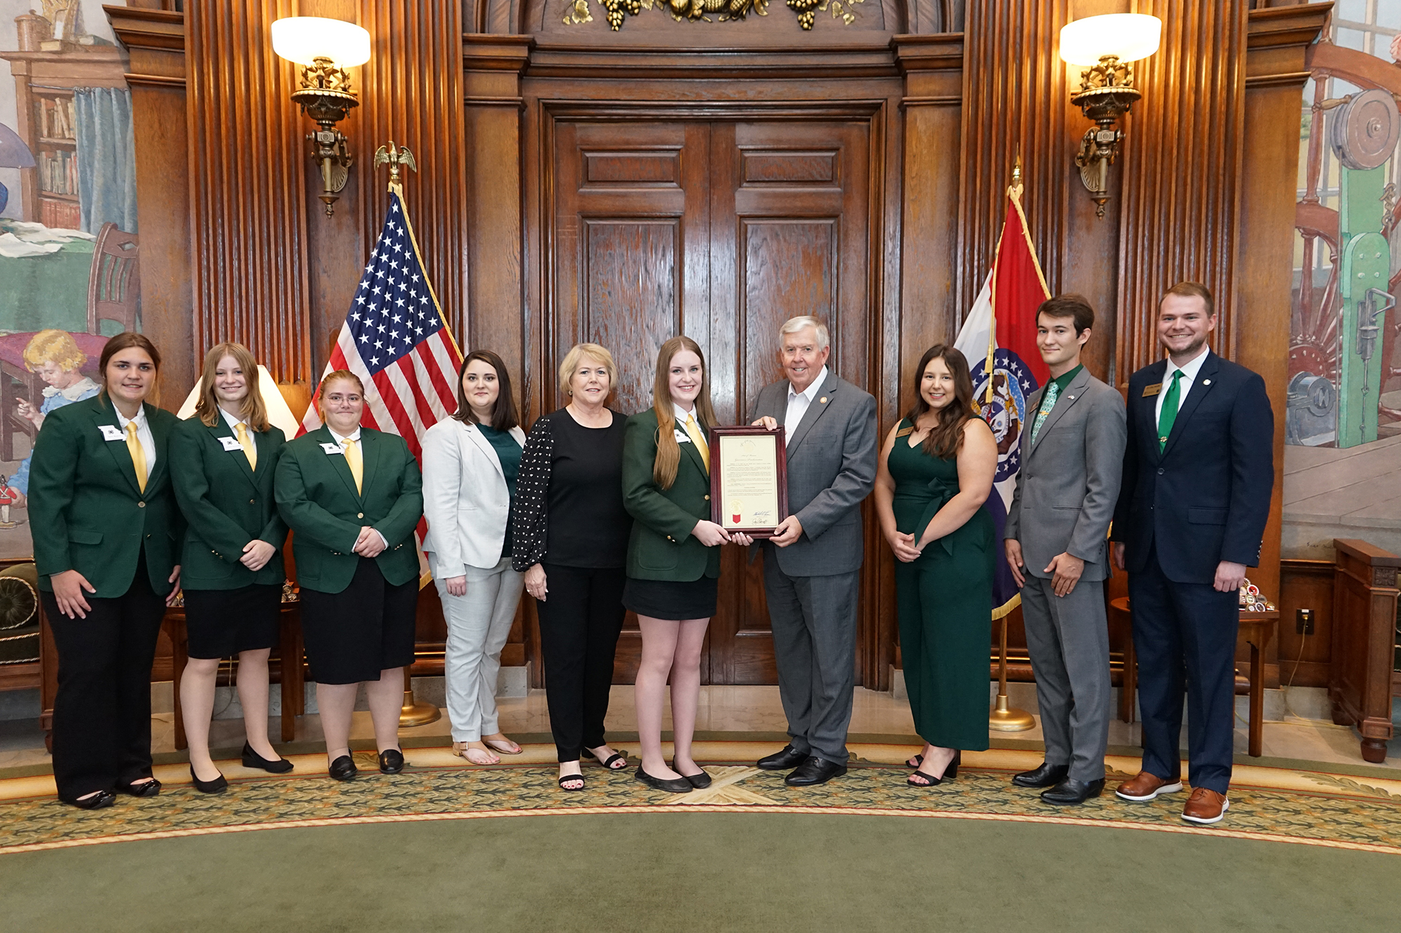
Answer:
M368 558L360 558L350 586L340 593L303 587L301 635L311 679L359 684L413 664L417 605L417 577L391 586Z

